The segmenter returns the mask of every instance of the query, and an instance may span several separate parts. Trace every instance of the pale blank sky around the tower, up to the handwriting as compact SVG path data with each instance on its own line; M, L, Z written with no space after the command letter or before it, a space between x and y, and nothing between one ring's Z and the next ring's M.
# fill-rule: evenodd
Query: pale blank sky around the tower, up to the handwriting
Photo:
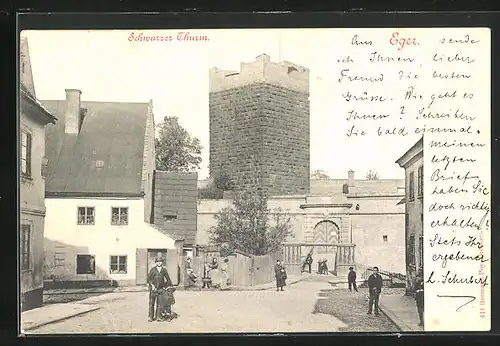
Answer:
M373 169L383 179L402 179L395 161L418 138L370 140L346 138L345 115L336 104L333 65L341 38L335 29L186 30L207 35L209 42L177 41L177 30L25 31L36 95L62 100L65 89L80 89L82 101L148 102L155 122L176 116L203 145L199 178L208 175L208 71L240 69L263 53L271 61L290 61L310 69L311 170L346 178L348 170L364 178ZM171 42L130 41L135 35L173 36ZM350 37L349 36L349 37ZM344 40L343 42L345 42ZM326 44L331 42L331 44Z

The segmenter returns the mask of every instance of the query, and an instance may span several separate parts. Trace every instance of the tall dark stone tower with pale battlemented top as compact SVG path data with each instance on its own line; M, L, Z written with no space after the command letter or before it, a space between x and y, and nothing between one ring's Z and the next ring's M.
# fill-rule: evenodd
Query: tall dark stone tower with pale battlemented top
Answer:
M239 72L210 70L210 176L268 196L306 194L309 69L266 54Z

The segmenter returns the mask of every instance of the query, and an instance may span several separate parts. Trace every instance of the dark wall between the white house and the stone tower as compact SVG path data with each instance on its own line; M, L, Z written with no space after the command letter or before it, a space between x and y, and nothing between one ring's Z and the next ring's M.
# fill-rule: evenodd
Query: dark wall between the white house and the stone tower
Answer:
M184 239L187 247L196 241L197 182L197 173L155 171L154 224L168 234Z

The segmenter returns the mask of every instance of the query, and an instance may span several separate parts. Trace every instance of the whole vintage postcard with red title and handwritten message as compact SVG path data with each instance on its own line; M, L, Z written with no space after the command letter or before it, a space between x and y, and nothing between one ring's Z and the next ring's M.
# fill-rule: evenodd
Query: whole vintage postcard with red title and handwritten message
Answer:
M21 333L490 330L490 41L23 31Z

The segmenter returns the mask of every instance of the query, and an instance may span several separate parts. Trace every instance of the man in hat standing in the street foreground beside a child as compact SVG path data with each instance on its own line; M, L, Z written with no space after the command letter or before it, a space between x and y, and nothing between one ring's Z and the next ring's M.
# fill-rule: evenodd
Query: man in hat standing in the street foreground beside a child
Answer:
M148 273L149 286L149 322L161 321L162 310L170 313L170 305L163 306L162 295L167 287L172 286L172 281L167 269L163 267L163 258L156 257L155 266ZM156 305L156 310L155 310Z

